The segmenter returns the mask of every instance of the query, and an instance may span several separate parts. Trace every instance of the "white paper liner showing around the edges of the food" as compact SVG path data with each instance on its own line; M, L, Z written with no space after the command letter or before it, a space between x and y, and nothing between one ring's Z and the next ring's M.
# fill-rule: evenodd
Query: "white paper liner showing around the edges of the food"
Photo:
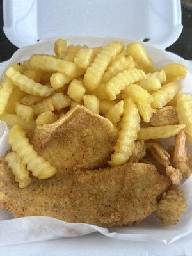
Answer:
M93 38L93 37L69 37L66 38L68 44L86 44L90 47L99 45L105 46L113 40L120 40L125 44L134 40L125 40L122 38ZM53 45L55 38L50 38L38 42L38 44L23 47L19 49L12 58L5 63L0 63L0 76L11 63L17 63L28 59L31 54L46 53L53 54ZM155 67L161 67L172 62L180 62L186 65L192 72L192 61L186 61L175 54L157 49L152 45L145 44L147 51L154 60ZM191 93L192 76L188 72L186 79L182 81L182 92ZM191 93L192 94L192 93ZM3 132L1 132L3 131ZM7 136L8 128L4 122L0 122L0 155L4 156L8 145ZM173 140L170 140L173 142ZM167 142L166 143L170 143ZM168 144L164 144L168 146ZM191 148L189 148L191 150ZM184 184L180 186L184 190L188 201L188 209L179 224L173 227L163 227L160 221L154 216L148 217L138 227L124 228L102 228L95 225L83 223L67 223L55 218L45 216L32 216L25 218L12 218L10 212L0 211L0 246L8 244L29 243L34 241L45 241L50 239L58 239L61 237L76 237L90 234L92 232L100 232L104 236L120 240L129 241L161 241L165 244L173 243L178 239L192 234L192 177L189 177Z

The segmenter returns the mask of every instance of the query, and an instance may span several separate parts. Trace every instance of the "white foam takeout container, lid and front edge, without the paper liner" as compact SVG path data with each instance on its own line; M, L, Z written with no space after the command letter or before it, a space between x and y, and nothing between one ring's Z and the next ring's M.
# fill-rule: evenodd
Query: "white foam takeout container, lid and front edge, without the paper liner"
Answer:
M165 49L177 40L182 31L180 0L4 0L3 12L4 32L17 47L35 44L38 40L52 36L74 36L74 40L70 38L70 42L76 42L76 36L100 36L97 39L99 45L102 44L102 38L106 37L141 41L148 38L150 44ZM95 43L95 38L90 40ZM79 38L79 43L81 42L86 43L84 37ZM42 52L43 49L39 46L35 45L37 52ZM161 51L158 50L159 54ZM27 48L22 53L26 56ZM22 59L22 56L17 52L12 60L14 58ZM172 55L170 59L177 61L177 56ZM179 61L185 64L184 60ZM189 61L188 67L191 67ZM190 255L192 246L189 246L189 239L186 241L176 242L173 246L171 244L166 250L163 244L160 246L155 241L144 244L109 240L97 233L65 239L61 243L47 241L14 247L0 246L0 256L42 253L54 256Z

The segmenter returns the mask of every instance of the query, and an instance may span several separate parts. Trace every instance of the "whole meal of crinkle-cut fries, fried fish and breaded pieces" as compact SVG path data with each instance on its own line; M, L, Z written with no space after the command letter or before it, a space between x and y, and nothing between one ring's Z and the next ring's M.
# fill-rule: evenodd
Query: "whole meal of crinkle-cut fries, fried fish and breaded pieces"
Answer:
M192 172L192 100L179 86L187 68L155 70L138 42L59 38L54 52L13 63L1 79L12 149L0 163L0 209L102 227L154 214L176 225L187 207L179 184Z

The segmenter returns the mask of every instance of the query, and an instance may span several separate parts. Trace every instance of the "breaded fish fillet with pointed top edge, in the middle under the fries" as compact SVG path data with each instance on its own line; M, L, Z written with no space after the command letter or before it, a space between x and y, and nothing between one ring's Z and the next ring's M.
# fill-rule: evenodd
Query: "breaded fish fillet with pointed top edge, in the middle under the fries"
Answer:
M33 148L60 170L103 166L113 152L118 130L107 119L76 106L53 124L28 132Z

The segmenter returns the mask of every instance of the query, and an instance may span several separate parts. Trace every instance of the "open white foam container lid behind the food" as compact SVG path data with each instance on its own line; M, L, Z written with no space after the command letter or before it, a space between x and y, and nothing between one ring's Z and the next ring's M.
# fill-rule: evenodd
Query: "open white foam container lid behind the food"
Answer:
M4 33L17 47L52 36L149 40L165 49L182 31L180 0L4 0Z

